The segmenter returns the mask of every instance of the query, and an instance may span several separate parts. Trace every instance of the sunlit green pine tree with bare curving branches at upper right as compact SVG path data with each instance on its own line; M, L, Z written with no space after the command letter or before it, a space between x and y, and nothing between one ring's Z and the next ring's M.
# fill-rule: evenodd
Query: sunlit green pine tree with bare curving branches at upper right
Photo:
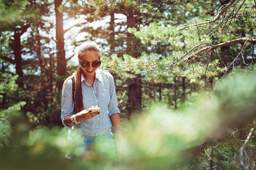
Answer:
M166 5L166 2L172 1L159 1L153 4ZM121 1L112 1L112 3L99 1L98 3L112 7L114 6L113 3L121 3ZM102 7L100 5L98 8ZM127 5L138 10L144 10L144 6L149 6L154 11L154 7L150 5L149 1L144 6L136 1L127 2ZM201 7L200 12L206 15L200 16L201 18L197 17L197 20L193 17L191 20L187 20L192 24L167 27L166 25L151 23L139 31L130 28L129 32L141 39L142 44L156 46L164 42L174 46L176 50L172 50L170 55L164 56L163 59L160 53L143 53L139 59L126 57L124 61L114 60L113 63L120 63L126 65L125 68L130 68L119 69L119 74L122 74L123 77L143 74L148 81L155 83L170 82L170 78L175 76L185 76L191 82L198 82L201 78L207 80L216 76L221 77L230 69L239 66L236 64L238 61L249 65L245 61L251 58L249 61L253 62L251 56L254 50L250 50L246 57L244 53L246 48L254 48L253 44L255 43L255 39L253 39L255 12L251 12L255 7L254 1L234 0L226 5L220 5L218 1L214 3L210 1L187 1L174 3L174 6L187 6L186 12L188 14L193 9ZM158 10L155 11L159 12ZM207 21L203 22L205 19ZM242 25L241 28L239 28L240 25ZM243 37L241 29L247 32L246 37ZM238 55L225 61L228 54L221 50L224 46L234 50L232 53Z

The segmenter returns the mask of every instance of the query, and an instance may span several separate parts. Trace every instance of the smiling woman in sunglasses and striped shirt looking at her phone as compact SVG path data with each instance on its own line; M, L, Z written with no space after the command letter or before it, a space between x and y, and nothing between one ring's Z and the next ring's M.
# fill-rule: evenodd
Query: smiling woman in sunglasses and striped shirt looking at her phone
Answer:
M78 59L76 74L66 79L63 84L61 120L69 129L75 129L82 135L85 151L94 150L98 154L114 153L110 128L114 126L119 138L122 138L122 131L113 76L98 69L101 61L100 49L96 42L82 43ZM98 106L100 111L88 112L92 106ZM100 147L95 149L96 145Z

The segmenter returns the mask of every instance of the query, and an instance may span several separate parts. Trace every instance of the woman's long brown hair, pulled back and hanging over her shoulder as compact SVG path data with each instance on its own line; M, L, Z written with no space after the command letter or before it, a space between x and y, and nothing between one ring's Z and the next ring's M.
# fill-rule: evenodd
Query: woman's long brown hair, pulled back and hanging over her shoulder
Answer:
M79 50L78 50L79 58L84 56L87 52L95 52L98 54L100 58L100 49L98 48L98 45L94 41L85 41L79 46ZM75 111L76 113L79 113L82 110L84 110L84 104L82 102L82 82L81 82L82 68L80 63L77 66L76 74L74 74L73 76L75 75L76 75L75 97L74 97L76 102ZM70 78L72 78L73 76L71 76ZM65 82L67 82L67 80Z

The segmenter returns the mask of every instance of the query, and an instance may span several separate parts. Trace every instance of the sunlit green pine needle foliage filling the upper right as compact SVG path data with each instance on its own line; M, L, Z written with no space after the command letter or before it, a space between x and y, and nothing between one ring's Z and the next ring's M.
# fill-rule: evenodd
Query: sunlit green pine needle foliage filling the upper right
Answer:
M149 1L142 3L126 2L126 1L111 1L113 3L129 3L134 8L143 11L154 10L154 6L160 5L162 2L155 2L150 5ZM111 5L110 1L97 1L96 8L100 9L104 5ZM181 3L180 6L176 5ZM221 6L219 2L212 3L211 1L196 1L196 2L175 2L177 6L174 10L183 16L180 20L177 16L172 16L164 11L164 15L169 16L173 20L172 24L167 24L166 21L152 22L149 25L144 25L141 28L129 28L129 33L141 40L141 43L147 45L149 49L159 48L164 44L164 49L153 53L143 52L141 57L134 59L127 58L125 55L122 60L115 60L115 66L110 64L109 67L121 78L135 78L136 75L143 75L148 82L170 82L176 76L185 77L191 80L192 83L201 84L203 79L205 82L218 79L226 74L230 69L228 62L235 63L234 67L241 67L238 62L233 62L237 59L228 56L239 56L241 46L234 44L230 46L230 50L211 49L206 52L200 52L205 46L212 46L220 42L229 41L242 36L253 37L255 23L255 8L250 4L253 1L233 3L228 6L225 13L221 17L214 20ZM185 6L185 7L182 7ZM238 6L241 10L237 11ZM250 9L250 10L249 10ZM152 11L151 11L152 12ZM197 15L197 14L201 15ZM216 13L216 14L214 14ZM239 19L233 19L236 14L239 14ZM241 14L241 15L240 15ZM198 16L198 17L197 17ZM250 16L248 21L242 16ZM228 20L228 24L224 19ZM212 22L214 20L214 22ZM183 24L182 22L185 22ZM209 22L205 22L209 21ZM175 24L173 24L175 23ZM229 28L227 28L230 25ZM239 25L243 25L240 28ZM240 31L238 31L240 30ZM246 34L247 33L247 34ZM249 44L250 45L250 44ZM249 46L247 45L247 46ZM250 49L250 47L249 47ZM197 53L199 52L199 53ZM251 62L252 50L246 55L247 63ZM152 62L144 63L144 58L151 58L154 55L159 59ZM132 55L130 55L131 57ZM112 56L113 58L113 56ZM166 61L162 62L163 58ZM234 60L233 60L234 59ZM238 59L237 59L238 60ZM108 61L108 63L111 61ZM120 63L119 63L120 62ZM132 62L132 63L131 63ZM155 63L154 63L155 62Z

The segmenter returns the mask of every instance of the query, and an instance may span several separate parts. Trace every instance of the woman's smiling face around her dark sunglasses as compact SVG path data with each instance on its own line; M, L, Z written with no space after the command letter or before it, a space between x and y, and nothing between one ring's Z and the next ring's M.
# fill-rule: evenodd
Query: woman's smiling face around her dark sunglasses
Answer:
M79 63L81 61L88 61L89 63L92 63L93 61L100 61L100 58L98 57L98 54L95 52L86 52L83 56L80 57ZM93 67L91 64L89 67L81 67L82 71L84 72L85 76L94 76L95 71L98 69L98 67Z

